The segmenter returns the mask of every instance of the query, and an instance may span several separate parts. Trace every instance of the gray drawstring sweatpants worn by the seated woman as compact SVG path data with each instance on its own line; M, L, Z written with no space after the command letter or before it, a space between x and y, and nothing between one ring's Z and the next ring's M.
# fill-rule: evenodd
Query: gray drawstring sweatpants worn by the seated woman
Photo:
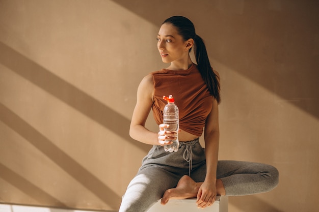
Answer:
M189 174L196 182L205 179L205 150L198 139L180 142L176 153L153 146L129 183L119 212L146 211L167 189L175 188L183 175ZM278 170L267 164L218 161L217 178L223 181L227 196L268 192L277 186L278 177Z

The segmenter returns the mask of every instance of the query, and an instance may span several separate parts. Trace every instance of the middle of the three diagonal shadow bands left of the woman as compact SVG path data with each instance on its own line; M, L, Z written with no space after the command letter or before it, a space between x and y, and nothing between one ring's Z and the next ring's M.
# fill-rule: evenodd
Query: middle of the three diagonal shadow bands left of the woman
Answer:
M14 130L16 133L28 140L32 145L38 148L49 159L58 164L63 170L65 170L65 172L71 175L74 179L76 179L89 191L95 194L103 202L108 204L113 209L118 208L118 206L121 203L120 196L118 196L109 187L105 186L101 180L99 180L96 176L90 173L82 165L78 164L74 159L72 159L70 156L64 153L59 147L57 147L54 143L52 143L49 139L47 139L45 136L39 133L31 125L26 123L25 120L20 118L17 114L15 114L2 103L0 103L0 120L3 123L5 123L8 127L10 127L12 130ZM9 174L10 173L12 172L9 172ZM9 183L12 185L18 184L17 180L22 180L21 182L25 181L24 179L22 179L22 177L17 178L16 175L11 175L15 177L7 178L7 181L9 181ZM28 184L21 186L19 183L18 186L18 188L22 190L28 188Z

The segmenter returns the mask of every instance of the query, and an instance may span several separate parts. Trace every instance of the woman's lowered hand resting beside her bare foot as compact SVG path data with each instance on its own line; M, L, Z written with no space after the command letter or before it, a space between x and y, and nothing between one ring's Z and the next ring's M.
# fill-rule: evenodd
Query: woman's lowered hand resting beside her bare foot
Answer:
M204 181L197 193L197 207L205 208L211 206L216 200L216 182Z

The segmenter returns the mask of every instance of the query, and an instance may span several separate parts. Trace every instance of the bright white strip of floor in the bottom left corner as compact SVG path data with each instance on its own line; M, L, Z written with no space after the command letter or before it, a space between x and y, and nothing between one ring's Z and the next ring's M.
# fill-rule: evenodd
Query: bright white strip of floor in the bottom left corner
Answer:
M96 212L96 211L0 204L0 212Z

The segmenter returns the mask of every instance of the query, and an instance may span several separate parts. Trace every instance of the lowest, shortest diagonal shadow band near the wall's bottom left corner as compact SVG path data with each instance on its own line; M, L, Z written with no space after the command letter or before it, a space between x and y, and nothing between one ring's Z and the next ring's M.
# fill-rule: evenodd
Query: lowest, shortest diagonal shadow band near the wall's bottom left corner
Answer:
M1 108L1 106L0 106ZM0 177L10 183L12 186L18 188L24 194L29 195L31 198L38 202L54 202L57 205L66 207L64 203L58 199L52 197L36 185L32 184L30 181L26 180L24 177L20 176L13 170L9 169L4 164L0 163ZM33 191L30 193L30 191Z

